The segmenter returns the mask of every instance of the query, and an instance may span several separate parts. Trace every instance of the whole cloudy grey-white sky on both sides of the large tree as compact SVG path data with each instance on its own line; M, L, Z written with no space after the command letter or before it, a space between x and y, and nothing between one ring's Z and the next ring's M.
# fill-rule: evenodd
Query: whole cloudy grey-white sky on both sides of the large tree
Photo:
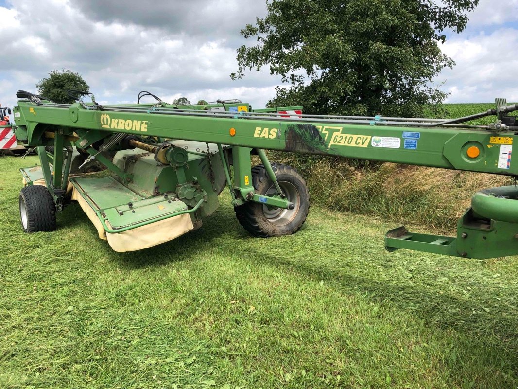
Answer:
M279 77L232 81L239 30L266 13L262 0L0 0L0 103L54 69L79 72L100 103L135 102L141 90L165 101L240 99L255 107ZM518 0L480 0L443 51L456 61L437 78L449 102L518 101ZM253 43L253 42L252 42Z

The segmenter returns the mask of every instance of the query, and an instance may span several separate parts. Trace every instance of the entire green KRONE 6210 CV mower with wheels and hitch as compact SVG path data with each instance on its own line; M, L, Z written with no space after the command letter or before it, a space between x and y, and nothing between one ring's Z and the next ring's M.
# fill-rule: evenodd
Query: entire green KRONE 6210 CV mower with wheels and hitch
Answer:
M238 100L177 106L145 91L137 104L76 97L86 94L70 91L74 104L17 94L16 136L37 149L41 162L21 169L25 232L54 230L56 214L77 201L99 238L115 251L135 251L200 228L228 187L249 233L295 233L308 215L306 182L290 166L270 163L265 150L518 175L518 120L509 115L518 104L504 99L477 115L424 119L302 115L300 107L254 110ZM145 95L156 102L140 103ZM496 120L466 124L485 116ZM261 160L253 168L252 154ZM385 246L466 258L518 254L516 200L515 186L481 190L458 220L456 237L399 227L386 233Z

